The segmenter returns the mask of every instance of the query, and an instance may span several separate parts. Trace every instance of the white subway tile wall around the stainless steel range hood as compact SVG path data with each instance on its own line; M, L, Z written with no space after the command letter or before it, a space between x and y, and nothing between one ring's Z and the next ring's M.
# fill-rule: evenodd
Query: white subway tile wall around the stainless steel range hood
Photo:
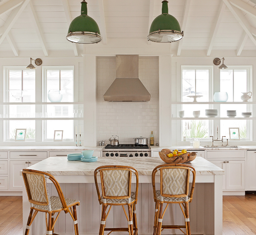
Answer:
M149 102L106 102L103 95L116 78L116 58L97 57L97 144L118 135L120 143L154 134L159 143L158 57L139 56L139 78L151 94ZM109 142L108 142L109 143Z

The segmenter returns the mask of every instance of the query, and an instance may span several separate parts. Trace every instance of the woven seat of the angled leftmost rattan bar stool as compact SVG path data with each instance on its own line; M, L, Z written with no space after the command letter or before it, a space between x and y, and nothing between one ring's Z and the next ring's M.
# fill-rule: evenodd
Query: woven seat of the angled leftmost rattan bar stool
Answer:
M75 204L80 203L80 201L69 199L69 198L65 198L65 201L66 201L67 207L71 207L71 206L74 206ZM51 202L52 211L60 211L63 209L61 204L61 199L59 197L51 196L50 202ZM34 205L34 208L40 209L42 211L48 211L48 206Z

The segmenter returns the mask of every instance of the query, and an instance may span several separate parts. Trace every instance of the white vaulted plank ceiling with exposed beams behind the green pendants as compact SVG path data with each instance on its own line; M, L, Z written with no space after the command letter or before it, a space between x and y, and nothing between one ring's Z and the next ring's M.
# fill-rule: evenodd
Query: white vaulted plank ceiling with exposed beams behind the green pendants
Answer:
M0 56L26 52L51 56L83 53L82 44L66 40L70 20L80 15L81 0L3 0L0 2ZM113 38L145 40L161 0L87 0L88 15L99 24L102 44ZM254 1L255 2L255 1ZM256 4L249 0L169 0L169 14L184 31L172 53L214 51L256 55ZM71 17L71 18L70 18Z

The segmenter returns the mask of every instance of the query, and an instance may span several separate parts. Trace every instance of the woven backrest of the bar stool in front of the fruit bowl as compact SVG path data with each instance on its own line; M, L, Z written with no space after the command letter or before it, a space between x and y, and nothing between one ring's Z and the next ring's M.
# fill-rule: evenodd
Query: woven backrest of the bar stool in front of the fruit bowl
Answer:
M193 173L190 198L195 185L195 169L187 164L164 164L157 166L152 172L154 198L156 197L155 175L160 171L160 194L163 197L182 198L189 196L189 175ZM154 178L154 179L153 179Z

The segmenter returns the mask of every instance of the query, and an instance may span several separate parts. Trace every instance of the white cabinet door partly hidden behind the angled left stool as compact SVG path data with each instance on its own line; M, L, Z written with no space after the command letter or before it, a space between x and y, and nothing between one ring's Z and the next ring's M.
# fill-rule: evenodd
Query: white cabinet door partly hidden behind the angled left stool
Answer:
M22 191L23 177L19 172L28 167L28 161L10 161L10 190Z

